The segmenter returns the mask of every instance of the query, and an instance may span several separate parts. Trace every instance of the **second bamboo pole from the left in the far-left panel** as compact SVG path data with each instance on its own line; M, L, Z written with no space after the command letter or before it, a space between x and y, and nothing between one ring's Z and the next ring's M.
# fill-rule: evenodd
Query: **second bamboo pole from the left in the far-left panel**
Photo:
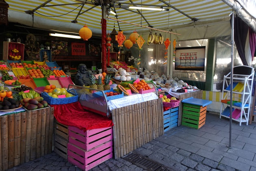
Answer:
M8 115L8 148L9 168L14 167L14 116Z

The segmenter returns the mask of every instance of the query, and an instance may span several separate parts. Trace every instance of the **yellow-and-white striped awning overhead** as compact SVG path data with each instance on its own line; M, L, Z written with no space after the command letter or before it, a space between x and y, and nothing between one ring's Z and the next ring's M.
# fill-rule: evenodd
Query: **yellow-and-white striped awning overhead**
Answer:
M245 4L242 5L239 1ZM253 0L6 0L10 6L9 22L70 32L78 32L86 23L95 34L101 33L103 6L101 2L117 14L115 16L109 13L109 17L142 26L170 30L175 27L229 19L230 13L235 8L232 4L237 3L245 9L249 1L252 5L247 5L248 7L256 7ZM129 9L129 6L155 7L166 11ZM255 23L255 14L250 15L249 9L246 12ZM148 30L148 28L107 19L109 33L114 26L116 30L120 29L126 33L133 32L135 29Z

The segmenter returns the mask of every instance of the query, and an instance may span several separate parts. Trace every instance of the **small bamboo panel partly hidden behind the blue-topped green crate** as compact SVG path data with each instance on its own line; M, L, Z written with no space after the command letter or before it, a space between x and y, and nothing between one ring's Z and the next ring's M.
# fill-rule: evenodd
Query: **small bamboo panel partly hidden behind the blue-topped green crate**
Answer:
M202 99L202 95L203 95L203 91L202 90L191 91L191 92L179 95L180 105L179 105L179 114L178 114L178 126L181 125L181 121L182 121L182 108L183 108L183 105L182 105L181 101L183 99L187 99L189 97L194 97L194 98Z

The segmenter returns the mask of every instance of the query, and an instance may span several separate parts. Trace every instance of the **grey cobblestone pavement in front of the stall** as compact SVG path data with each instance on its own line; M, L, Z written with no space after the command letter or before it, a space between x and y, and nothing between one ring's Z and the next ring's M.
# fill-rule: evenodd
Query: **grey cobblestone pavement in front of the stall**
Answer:
M173 128L133 153L146 156L175 171L256 171L256 123L246 126L233 121L232 148L228 148L229 120L207 113L199 130ZM81 171L53 152L8 171ZM143 171L120 158L110 159L91 171Z

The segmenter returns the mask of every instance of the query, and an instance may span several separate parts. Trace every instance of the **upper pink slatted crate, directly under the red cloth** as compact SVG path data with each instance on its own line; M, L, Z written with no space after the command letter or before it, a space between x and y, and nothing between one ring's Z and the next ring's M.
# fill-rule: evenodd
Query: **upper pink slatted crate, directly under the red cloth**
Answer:
M89 151L98 145L113 140L112 127L87 130L84 132L77 127L69 126L69 143L72 143L85 151Z

